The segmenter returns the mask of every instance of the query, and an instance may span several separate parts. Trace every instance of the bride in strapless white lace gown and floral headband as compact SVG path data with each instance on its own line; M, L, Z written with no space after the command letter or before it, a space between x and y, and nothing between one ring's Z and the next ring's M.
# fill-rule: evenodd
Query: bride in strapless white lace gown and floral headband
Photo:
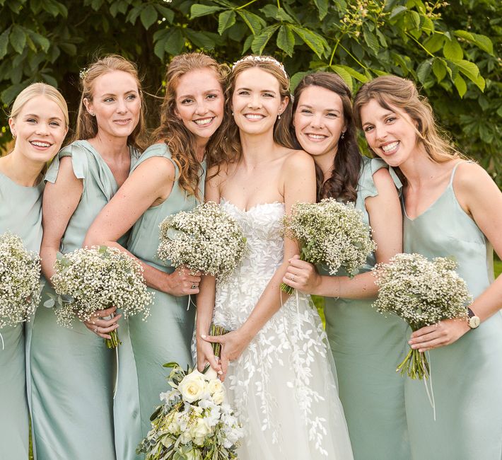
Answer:
M216 284L206 276L200 284L197 366L209 362L227 381L246 433L239 459L347 460L349 434L320 318L310 297L288 299L279 289L298 253L281 236L281 219L294 202L315 202L314 162L292 149L288 88L272 57L249 56L233 66L228 126L206 200L240 222L249 252L230 280ZM211 322L231 332L211 337ZM211 342L222 344L220 362Z

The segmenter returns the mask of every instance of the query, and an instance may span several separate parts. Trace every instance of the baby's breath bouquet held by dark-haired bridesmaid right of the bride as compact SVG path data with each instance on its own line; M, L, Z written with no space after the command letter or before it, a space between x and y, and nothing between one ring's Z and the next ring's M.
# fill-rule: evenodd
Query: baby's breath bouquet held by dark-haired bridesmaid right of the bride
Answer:
M300 258L327 266L330 275L343 267L349 276L357 275L376 243L371 229L363 222L363 213L354 203L325 198L318 203L297 202L291 214L284 216L284 234L298 241ZM282 283L288 294L293 288Z

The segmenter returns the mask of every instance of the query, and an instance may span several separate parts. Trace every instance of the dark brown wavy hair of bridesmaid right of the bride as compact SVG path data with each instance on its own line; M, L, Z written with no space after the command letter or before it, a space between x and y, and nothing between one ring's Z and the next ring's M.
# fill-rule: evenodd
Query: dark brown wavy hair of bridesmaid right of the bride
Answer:
M333 171L326 181L319 166L315 166L317 182L317 201L322 198L339 198L343 201L356 201L358 180L361 173L361 152L356 140L356 125L352 111L351 91L341 77L331 72L316 72L308 74L296 86L293 102L293 114L298 108L301 93L309 86L319 86L338 94L342 99L343 117L345 122L344 137L340 137L337 153L333 159ZM296 139L294 127L291 125L291 134ZM298 148L301 148L296 140Z

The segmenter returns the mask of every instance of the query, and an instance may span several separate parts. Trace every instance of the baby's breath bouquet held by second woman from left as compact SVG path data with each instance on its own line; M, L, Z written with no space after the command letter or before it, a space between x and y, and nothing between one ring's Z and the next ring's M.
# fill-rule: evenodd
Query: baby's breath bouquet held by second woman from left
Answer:
M57 294L69 298L61 301L59 297L59 308L55 310L62 326L71 327L75 316L89 321L96 310L111 306L121 309L126 318L142 313L146 319L150 314L148 305L153 294L146 289L143 268L118 248L93 246L64 255L58 253L51 283ZM45 302L45 306L54 306L54 299ZM105 340L107 347L117 347L117 330L110 336Z

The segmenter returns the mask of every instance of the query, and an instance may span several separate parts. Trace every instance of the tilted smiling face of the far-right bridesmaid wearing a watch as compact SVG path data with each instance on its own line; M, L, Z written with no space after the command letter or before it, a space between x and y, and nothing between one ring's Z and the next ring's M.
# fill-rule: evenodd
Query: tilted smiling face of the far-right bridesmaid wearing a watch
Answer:
M401 165L419 150L414 121L392 105L387 109L371 99L361 107L361 125L370 149L390 166Z

